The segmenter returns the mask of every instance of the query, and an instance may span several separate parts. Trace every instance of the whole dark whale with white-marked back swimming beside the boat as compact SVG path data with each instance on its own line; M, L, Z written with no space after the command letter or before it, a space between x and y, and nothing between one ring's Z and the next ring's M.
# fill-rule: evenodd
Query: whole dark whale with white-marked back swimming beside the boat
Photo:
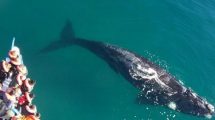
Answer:
M72 23L66 21L57 41L51 42L39 53L77 45L101 59L129 83L140 90L138 100L153 105L166 106L172 110L200 117L212 117L214 106L191 88L185 87L167 70L135 52L95 40L75 36Z

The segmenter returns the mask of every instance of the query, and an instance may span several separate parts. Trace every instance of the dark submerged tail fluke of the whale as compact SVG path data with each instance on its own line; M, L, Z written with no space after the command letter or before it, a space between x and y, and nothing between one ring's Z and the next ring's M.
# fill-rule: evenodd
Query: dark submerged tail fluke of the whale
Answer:
M76 38L72 28L72 23L70 22L70 20L67 20L65 26L63 27L60 33L58 40L50 43L47 47L40 50L39 53L47 53L64 47L68 47L71 46L72 44L75 44L75 41Z

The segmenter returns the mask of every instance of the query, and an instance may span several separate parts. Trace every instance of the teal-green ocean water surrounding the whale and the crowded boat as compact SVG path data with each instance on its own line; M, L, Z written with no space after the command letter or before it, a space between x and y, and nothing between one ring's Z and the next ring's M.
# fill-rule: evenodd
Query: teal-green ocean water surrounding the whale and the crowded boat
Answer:
M38 54L68 19L77 37L135 51L215 105L213 0L0 0L0 16L0 58L15 36L42 120L204 119L135 103L139 91L79 46Z

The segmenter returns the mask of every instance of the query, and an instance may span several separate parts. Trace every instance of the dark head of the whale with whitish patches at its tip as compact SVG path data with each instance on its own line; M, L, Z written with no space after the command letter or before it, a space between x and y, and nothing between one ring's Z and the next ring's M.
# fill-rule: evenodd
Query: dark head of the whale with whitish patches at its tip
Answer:
M205 99L199 97L196 93L187 89L181 93L180 98L175 101L177 110L193 114L196 116L205 116L211 118L214 115L214 106L208 103Z

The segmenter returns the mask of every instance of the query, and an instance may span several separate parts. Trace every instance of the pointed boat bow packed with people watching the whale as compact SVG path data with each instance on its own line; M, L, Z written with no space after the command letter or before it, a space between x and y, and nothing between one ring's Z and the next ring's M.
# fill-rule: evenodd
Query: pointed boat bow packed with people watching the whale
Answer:
M40 120L32 103L34 85L13 38L8 57L0 62L0 120Z

